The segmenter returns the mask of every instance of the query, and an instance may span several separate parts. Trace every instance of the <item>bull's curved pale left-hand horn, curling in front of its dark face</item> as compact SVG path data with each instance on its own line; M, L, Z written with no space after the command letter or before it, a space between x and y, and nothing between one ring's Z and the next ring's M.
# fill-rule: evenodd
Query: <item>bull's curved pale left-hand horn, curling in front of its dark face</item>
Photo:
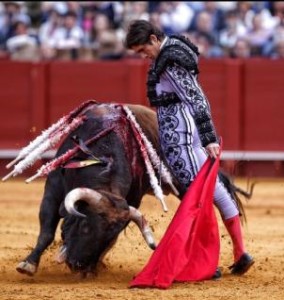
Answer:
M70 191L64 200L64 205L69 214L79 217L86 217L86 215L78 212L75 209L75 203L79 200L84 200L89 204L97 204L102 198L102 194L88 189L88 188L76 188Z

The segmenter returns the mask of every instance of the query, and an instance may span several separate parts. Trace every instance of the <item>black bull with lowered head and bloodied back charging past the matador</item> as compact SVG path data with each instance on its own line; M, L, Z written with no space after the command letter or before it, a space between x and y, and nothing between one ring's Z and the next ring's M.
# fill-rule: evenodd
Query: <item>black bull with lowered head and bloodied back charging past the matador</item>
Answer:
M128 108L158 149L156 114L140 105ZM63 246L58 261L81 274L95 271L98 261L130 221L138 225L148 245L155 247L147 222L137 210L142 197L151 192L149 174L141 144L121 105L95 103L80 114L86 116L85 121L67 135L56 157L74 147L78 151L47 176L39 212L40 233L35 248L17 266L21 273L36 273L61 218ZM92 137L93 141L86 144ZM87 166L82 167L84 163ZM242 208L236 192L250 195L234 186L223 173L220 176ZM181 198L184 191L176 182L175 185ZM168 185L164 191L170 192Z

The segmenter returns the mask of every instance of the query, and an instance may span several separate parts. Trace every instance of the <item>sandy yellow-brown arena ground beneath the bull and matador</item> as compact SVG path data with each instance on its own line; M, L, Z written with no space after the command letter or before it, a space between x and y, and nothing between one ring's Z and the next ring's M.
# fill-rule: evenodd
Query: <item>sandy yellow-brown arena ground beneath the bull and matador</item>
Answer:
M246 189L246 181L236 183ZM263 179L253 198L244 201L248 223L243 227L247 250L256 263L244 276L233 276L231 244L219 219L221 235L218 281L174 283L167 290L129 289L128 284L148 261L151 251L138 229L130 224L104 259L105 267L85 279L71 274L55 262L59 231L53 245L42 256L33 277L16 271L18 262L34 247L38 235L38 210L44 181L25 184L23 179L0 183L0 299L284 299L284 180ZM157 242L173 216L178 201L167 197L164 213L152 196L143 199L141 211L154 228Z

